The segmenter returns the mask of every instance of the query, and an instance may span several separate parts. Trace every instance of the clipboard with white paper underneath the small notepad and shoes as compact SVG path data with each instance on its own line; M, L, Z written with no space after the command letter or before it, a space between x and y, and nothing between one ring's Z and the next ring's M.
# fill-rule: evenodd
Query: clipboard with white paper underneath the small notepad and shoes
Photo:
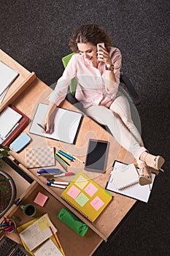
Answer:
M114 178L113 178L113 174L115 171L114 167L120 167L120 166L123 167L123 165L127 166L123 162L118 162L118 161L114 162L113 169L110 173L109 180L107 181L105 189L107 189L108 191L118 193L120 195L132 197L136 200L141 200L142 202L147 203L150 198L151 189L155 181L155 174L152 173L152 184L150 184L150 186L149 185L140 186L139 183L136 183L136 184L133 184L132 186L125 187L124 189L117 189L114 183Z

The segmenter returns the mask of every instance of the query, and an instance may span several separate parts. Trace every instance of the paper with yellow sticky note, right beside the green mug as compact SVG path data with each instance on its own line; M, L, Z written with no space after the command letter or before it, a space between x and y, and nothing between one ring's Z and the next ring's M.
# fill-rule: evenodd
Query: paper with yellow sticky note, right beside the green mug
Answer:
M36 246L39 246L39 244L42 244L42 242L52 236L50 227L52 227L54 233L57 231L53 223L47 217L47 214L45 214L32 225L26 227L26 229L20 233L20 237L26 243L28 249L32 251Z

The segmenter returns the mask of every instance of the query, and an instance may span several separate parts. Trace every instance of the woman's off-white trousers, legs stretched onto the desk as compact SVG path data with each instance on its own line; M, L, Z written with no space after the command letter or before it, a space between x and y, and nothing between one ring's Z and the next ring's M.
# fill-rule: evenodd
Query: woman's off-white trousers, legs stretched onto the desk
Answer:
M85 111L98 123L107 125L115 140L131 152L136 160L144 151L147 151L144 148L141 135L131 119L128 99L120 91L109 108L103 105L93 105Z

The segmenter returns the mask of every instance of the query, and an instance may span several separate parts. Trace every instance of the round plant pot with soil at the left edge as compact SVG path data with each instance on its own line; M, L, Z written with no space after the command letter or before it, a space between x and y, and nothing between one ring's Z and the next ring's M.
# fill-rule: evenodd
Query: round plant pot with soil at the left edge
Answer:
M7 192L0 190L0 218L8 211L8 209L14 203L16 197L15 183L9 174L5 173L4 170L0 170L0 177L7 178L6 181L2 181L1 185L7 187Z

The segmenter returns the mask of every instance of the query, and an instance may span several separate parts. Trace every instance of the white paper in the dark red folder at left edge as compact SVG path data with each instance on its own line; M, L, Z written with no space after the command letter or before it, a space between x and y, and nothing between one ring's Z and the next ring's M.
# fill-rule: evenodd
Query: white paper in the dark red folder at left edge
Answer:
M20 115L20 113L17 113L12 108L5 108L0 113L0 137L6 138L7 135L9 135L9 132L11 132L11 130L13 129L13 127L18 124L20 118L22 118L22 115Z

